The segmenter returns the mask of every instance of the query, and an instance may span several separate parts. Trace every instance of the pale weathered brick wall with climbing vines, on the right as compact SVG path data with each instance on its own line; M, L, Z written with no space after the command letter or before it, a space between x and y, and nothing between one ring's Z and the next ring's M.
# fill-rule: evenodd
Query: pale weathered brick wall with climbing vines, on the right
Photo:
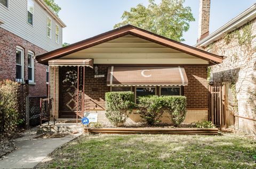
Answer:
M238 101L238 112L235 114L253 119L256 119L256 114L252 111L249 98L251 91L256 88L253 80L256 77L255 36L256 20L253 20L203 48L207 52L225 56L222 64L211 66L212 81L218 85L234 83L236 91L233 93ZM236 118L235 122L237 129L255 133L255 121Z

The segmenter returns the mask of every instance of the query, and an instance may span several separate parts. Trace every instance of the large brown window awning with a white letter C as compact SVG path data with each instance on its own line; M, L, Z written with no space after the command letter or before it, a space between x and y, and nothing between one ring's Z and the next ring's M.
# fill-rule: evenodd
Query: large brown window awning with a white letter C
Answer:
M186 86L182 66L111 66L107 86Z

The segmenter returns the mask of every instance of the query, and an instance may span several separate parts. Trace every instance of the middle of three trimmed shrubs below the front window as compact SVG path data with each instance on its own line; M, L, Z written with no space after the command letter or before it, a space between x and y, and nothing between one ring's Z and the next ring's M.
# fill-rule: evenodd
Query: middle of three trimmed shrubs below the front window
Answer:
M146 96L139 97L137 104L137 113L149 125L155 125L161 122L160 118L164 113L164 100L163 97Z

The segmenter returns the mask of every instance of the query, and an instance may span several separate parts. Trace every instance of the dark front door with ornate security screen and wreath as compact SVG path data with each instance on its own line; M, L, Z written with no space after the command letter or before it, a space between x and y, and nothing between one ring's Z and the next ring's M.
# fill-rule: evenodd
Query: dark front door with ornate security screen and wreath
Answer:
M59 71L59 117L76 118L77 109L77 67L63 66ZM79 78L79 77L78 77ZM79 78L81 82L82 78ZM81 84L81 83L80 83ZM78 92L78 113L81 113L81 91Z

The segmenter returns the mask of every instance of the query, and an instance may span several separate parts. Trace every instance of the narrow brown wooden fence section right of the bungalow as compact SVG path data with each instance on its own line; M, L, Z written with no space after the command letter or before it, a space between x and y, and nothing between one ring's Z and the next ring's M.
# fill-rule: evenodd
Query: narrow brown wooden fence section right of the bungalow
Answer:
M225 85L209 86L209 121L220 129L226 128Z

